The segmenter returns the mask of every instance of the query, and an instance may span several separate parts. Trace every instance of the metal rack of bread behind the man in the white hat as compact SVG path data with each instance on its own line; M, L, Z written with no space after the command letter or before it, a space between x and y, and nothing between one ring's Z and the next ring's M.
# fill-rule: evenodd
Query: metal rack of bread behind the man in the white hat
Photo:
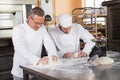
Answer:
M75 10L79 14L75 16ZM74 14L73 14L74 13ZM84 7L73 9L72 14L74 22L81 24L95 37L94 42L99 46L106 45L106 14L103 8ZM81 43L81 45L83 45Z

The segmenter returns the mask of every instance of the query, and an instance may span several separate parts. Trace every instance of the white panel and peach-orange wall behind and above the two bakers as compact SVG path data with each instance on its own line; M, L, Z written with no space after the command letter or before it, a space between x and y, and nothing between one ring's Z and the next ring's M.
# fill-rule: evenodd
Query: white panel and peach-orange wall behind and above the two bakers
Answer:
M81 7L81 5L82 0L49 0L49 3L45 3L45 0L41 0L41 7L55 22L57 22L57 17L60 14L66 13L71 15L72 10Z

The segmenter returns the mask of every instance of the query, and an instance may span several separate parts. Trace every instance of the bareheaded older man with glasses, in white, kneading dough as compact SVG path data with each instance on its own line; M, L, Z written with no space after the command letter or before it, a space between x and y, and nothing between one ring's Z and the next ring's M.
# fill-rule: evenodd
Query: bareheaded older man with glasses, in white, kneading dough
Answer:
M23 80L23 71L20 65L47 64L48 57L41 58L42 45L45 46L48 56L57 60L57 51L44 26L44 11L39 7L30 10L26 23L13 28L12 41L14 58L12 75L14 80Z

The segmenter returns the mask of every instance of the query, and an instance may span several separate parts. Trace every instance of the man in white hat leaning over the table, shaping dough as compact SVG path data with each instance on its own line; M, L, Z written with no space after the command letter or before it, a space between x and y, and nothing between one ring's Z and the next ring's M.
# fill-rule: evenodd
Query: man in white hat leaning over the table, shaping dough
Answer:
M93 35L80 24L72 23L72 16L62 14L58 17L58 26L52 28L49 33L58 49L59 57L71 58L89 56L95 43ZM85 42L85 47L80 50L80 39Z

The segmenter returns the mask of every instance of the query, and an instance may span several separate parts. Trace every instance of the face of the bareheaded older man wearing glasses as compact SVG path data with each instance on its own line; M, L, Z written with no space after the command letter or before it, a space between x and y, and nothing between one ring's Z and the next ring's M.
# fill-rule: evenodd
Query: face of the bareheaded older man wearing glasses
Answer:
M28 17L28 24L35 31L37 31L42 26L43 23L44 23L44 17L40 17L37 15L35 15L34 17L31 16Z

